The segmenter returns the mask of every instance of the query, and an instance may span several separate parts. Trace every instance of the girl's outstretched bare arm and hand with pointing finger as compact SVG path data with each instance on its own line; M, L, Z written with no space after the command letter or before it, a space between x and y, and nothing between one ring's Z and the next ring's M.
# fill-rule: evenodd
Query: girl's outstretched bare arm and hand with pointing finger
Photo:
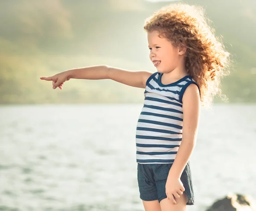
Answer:
M61 88L66 80L76 79L111 79L128 86L145 88L146 81L152 75L150 71L129 71L121 68L115 68L106 65L90 66L84 68L70 69L58 73L52 77L40 77L41 80L52 81L52 88Z

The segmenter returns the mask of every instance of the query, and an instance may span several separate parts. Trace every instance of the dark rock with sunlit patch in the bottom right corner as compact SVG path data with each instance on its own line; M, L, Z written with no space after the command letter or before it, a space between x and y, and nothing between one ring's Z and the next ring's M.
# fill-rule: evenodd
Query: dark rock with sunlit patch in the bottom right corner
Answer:
M207 211L256 211L256 202L250 196L229 194L215 201Z

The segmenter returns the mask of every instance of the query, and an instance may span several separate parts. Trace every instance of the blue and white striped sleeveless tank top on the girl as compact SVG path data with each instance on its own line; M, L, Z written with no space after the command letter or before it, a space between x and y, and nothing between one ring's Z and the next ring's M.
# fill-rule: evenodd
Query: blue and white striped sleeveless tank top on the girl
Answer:
M137 163L173 163L182 140L182 97L195 81L185 76L163 85L162 75L156 72L146 82L144 106L136 130Z

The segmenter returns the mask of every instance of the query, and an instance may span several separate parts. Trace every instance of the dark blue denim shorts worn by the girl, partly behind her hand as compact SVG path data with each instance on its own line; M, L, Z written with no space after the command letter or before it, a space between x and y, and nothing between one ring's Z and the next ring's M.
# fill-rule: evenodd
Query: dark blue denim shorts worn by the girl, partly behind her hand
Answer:
M166 180L172 167L172 163L163 164L141 164L137 166L137 179L140 191L140 199L144 201L161 200L167 198L166 196ZM184 168L180 177L181 182L185 188L187 195L186 204L194 205L194 192L192 186L192 176L189 162Z

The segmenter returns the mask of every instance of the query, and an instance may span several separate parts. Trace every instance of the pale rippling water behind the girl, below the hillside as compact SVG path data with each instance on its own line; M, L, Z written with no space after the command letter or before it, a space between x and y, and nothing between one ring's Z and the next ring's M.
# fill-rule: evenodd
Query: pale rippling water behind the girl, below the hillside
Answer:
M0 210L143 211L135 130L142 105L0 107ZM256 105L202 110L190 159L195 205L256 199Z

